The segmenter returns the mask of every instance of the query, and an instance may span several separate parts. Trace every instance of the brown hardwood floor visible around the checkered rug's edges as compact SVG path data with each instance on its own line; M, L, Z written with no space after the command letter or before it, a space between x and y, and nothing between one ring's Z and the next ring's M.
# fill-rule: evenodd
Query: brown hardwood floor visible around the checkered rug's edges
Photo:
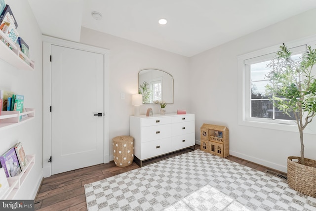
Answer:
M199 149L199 147L199 145L196 145L195 149ZM184 149L157 159L152 159L151 161L155 162L189 151L192 151L192 149ZM263 172L266 170L273 170L231 155L226 157L226 159ZM86 211L87 207L84 194L85 184L99 181L101 179L138 168L139 166L135 162L133 162L133 164L128 167L121 168L117 167L112 161L108 164L99 164L96 166L72 170L44 178L38 195L35 199L35 210ZM278 173L285 174L283 172Z

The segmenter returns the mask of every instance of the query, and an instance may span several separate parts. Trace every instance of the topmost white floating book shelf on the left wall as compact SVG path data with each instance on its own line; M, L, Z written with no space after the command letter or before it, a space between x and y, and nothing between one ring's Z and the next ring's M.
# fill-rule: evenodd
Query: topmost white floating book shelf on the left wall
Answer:
M19 49L18 45L13 43L1 30L0 37L10 43L12 50L2 41L0 41L0 58L10 65L20 70L34 70L34 61L31 61L24 53ZM22 55L29 63L26 63L19 55Z

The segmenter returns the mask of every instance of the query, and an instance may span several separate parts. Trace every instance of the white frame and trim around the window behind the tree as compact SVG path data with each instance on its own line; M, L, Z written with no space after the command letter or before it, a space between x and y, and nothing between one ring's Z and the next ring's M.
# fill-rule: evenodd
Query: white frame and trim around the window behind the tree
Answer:
M311 45L315 47L316 42L311 42L311 40L316 40L316 37L311 37L307 39L302 39L295 42L286 43L288 48L295 48L300 46ZM312 45L314 44L314 46ZM265 118L253 118L250 117L251 109L251 79L250 79L250 68L247 69L245 63L257 63L267 60L267 58L272 58L276 55L276 52L280 50L280 45L275 45L265 49L257 50L247 54L243 54L237 57L238 59L238 124L242 126L249 127L261 127L267 129L285 130L297 132L297 125L295 121L292 120L273 120ZM314 127L314 128L313 128ZM316 134L316 117L315 120L304 130L305 133Z

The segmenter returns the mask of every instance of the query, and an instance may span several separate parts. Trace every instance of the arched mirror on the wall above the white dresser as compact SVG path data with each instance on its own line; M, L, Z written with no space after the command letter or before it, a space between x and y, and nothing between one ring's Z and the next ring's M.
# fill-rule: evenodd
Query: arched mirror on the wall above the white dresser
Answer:
M138 93L143 95L143 103L173 103L173 77L162 70L141 70L138 73Z

